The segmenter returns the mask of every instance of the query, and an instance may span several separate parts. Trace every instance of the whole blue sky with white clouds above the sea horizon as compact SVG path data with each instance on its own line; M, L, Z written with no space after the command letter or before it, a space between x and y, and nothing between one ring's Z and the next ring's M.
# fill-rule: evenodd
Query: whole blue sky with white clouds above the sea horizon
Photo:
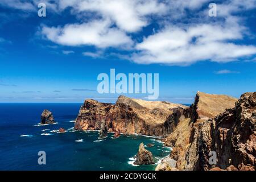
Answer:
M255 12L256 0L2 0L0 102L114 102L97 92L111 68L159 73L159 100L171 102L255 92Z

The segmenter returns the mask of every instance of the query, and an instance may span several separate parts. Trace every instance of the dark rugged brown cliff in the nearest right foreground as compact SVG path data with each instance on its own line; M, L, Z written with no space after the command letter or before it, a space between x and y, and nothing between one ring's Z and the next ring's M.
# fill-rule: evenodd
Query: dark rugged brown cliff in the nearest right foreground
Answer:
M209 152L217 154L217 164L209 164ZM184 160L187 170L255 170L256 92L245 93L233 109L199 125Z

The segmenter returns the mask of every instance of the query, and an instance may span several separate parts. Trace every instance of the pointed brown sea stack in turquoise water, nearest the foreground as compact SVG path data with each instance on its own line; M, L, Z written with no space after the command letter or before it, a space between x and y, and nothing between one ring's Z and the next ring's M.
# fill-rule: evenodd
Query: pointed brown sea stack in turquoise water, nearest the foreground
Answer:
M144 144L139 144L139 151L134 162L135 165L154 164L153 155L144 148Z

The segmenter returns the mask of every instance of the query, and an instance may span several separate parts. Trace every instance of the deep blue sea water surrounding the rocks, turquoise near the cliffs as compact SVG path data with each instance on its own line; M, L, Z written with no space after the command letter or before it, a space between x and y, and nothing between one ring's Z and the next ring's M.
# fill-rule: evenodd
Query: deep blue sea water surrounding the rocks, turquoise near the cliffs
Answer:
M155 161L170 148L154 138L129 135L98 140L97 131L73 131L73 119L81 104L0 104L0 170L154 170L155 165L133 166L129 158L146 147ZM56 125L36 126L44 109L51 110ZM63 127L67 133L51 133ZM42 131L43 130L43 131ZM48 133L52 135L41 135ZM20 137L29 135L30 137ZM82 140L82 142L76 142ZM46 152L46 165L38 164L38 152Z

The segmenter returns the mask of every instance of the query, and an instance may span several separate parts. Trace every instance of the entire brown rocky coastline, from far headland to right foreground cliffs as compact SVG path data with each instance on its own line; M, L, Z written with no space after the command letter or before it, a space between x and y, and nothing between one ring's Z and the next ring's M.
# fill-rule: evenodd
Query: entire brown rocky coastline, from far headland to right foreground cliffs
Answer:
M190 107L125 96L115 104L86 100L74 128L113 132L115 137L122 133L162 138L172 151L156 170L242 171L256 166L256 92L242 94L239 100L197 92ZM211 152L216 154L214 164L209 162Z

